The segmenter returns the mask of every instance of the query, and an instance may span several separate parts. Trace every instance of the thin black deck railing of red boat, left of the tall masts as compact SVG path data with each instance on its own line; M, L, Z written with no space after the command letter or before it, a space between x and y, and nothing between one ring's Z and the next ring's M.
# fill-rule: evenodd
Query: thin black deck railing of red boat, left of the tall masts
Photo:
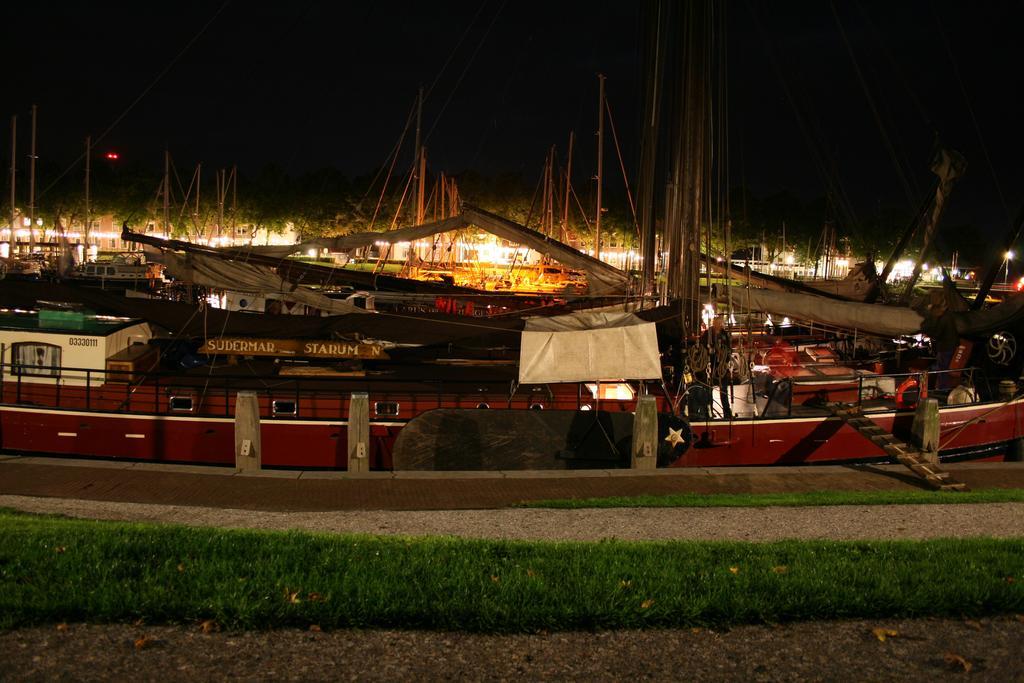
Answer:
M257 394L261 417L345 419L353 392L370 397L371 417L408 419L436 408L632 411L632 398L597 398L595 383L518 385L494 379L259 376L35 368L0 364L0 403L60 410L230 418L239 391ZM597 383L600 384L600 383ZM611 384L611 383L609 383Z

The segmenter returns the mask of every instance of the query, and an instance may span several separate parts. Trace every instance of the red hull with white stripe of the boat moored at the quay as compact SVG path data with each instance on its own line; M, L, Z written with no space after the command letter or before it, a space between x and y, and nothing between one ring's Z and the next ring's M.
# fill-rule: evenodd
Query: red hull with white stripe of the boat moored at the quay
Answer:
M0 404L0 447L15 453L39 453L77 457L115 458L150 462L233 465L233 397L221 396L223 405L209 410L223 417L155 414L166 411L166 395L153 392L132 396L139 412L81 410L67 390L56 396L50 387L32 387L34 405ZM113 411L123 400L93 390L91 405ZM124 389L116 388L117 397ZM10 393L7 393L10 396ZM390 469L391 453L398 432L417 415L434 408L455 408L484 413L477 407L486 398L417 400L412 396L386 395L400 405L399 415L371 419L371 466ZM546 410L575 410L579 394L548 396ZM49 400L47 400L47 398ZM215 398L215 397L214 397ZM375 400L378 396L372 396ZM494 398L494 397L492 397ZM209 399L213 400L213 398ZM261 399L261 414L270 413L269 399ZM527 409L517 400L513 408ZM49 403L49 405L48 405ZM521 404L520 404L521 403ZM531 403L537 404L537 403ZM150 412L142 409L150 408ZM302 419L269 418L261 421L262 464L266 467L344 469L347 466L347 400L339 397L302 402ZM630 412L633 401L605 401L601 410ZM1024 399L1010 403L978 403L943 408L940 411L941 456L949 458L1001 458L1009 443L1024 436L1020 428ZM909 438L912 411L868 414L879 426L898 437ZM713 420L690 425L693 443L674 464L677 467L823 464L883 461L886 454L838 418L790 417L779 419Z

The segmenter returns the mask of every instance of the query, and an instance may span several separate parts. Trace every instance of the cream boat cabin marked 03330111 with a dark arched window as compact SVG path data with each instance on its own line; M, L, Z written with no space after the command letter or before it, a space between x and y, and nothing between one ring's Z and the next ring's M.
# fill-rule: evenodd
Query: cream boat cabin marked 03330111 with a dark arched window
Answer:
M152 338L150 324L134 318L66 309L0 311L2 379L71 386L128 381L130 375L104 371L134 370L150 359L155 365Z

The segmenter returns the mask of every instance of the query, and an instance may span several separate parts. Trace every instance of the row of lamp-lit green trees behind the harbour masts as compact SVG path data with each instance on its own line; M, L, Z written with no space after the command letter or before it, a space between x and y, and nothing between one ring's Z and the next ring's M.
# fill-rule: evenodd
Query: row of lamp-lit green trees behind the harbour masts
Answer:
M350 177L328 167L295 174L281 166L267 165L255 172L239 174L237 182L223 193L222 208L218 206L214 175L213 169L203 169L197 204L194 169L178 169L171 174L169 214L175 237L210 234L221 215L221 227L245 226L253 232L262 229L281 232L293 227L301 239L386 230L414 222L412 191L401 199L404 179L392 182L382 197L382 175L376 172ZM85 216L83 176L80 173L59 176L55 168L41 164L37 177L37 187L42 191L37 191L36 216L43 220L44 226L52 227L58 220L65 228L81 226ZM46 184L48 177L57 180ZM539 226L536 178L521 173L485 175L472 171L454 178L466 202L519 223L528 221L529 227ZM25 185L20 183L16 201L23 212L28 204ZM431 186L432 179L428 181L428 195ZM150 223L162 225L162 169L117 162L94 163L90 174L90 213L93 217L113 214L116 220L127 221L133 228ZM569 207L569 236L575 244L590 247L595 210L593 187L577 191L579 201L571 201ZM10 216L9 201L5 204L5 215ZM638 248L638 229L625 191L605 188L603 204L602 245ZM854 254L887 253L910 219L905 210L879 207L862 224L846 225L835 221L825 198L804 200L787 191L757 195L745 187L730 191L729 205L733 251L764 245L772 254L780 252L784 244L786 251L798 258L816 253L822 228L828 222L837 228L840 246L848 246ZM428 197L427 220L433 219L435 209L435 203ZM724 219L719 218L712 231L713 249L724 254Z

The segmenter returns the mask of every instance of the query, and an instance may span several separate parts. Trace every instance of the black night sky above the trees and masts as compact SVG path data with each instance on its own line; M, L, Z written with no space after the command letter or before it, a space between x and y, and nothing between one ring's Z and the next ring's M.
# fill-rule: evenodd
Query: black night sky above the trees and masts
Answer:
M1021 4L836 7L910 182L930 184L938 131L970 163L947 224L1001 234L1024 202ZM860 217L880 202L906 207L829 3L727 11L733 183L803 199L823 191L770 47ZM125 163L159 168L166 144L179 168L364 174L383 163L419 85L436 79L424 115L432 168L532 178L574 128L581 183L593 168L597 72L608 75L626 157L637 156L642 31L632 2L40 1L6 3L0 16L18 55L5 59L0 115L18 115L20 156L37 103L41 161L61 170L87 134L124 115L99 147ZM0 139L6 167L9 135Z

